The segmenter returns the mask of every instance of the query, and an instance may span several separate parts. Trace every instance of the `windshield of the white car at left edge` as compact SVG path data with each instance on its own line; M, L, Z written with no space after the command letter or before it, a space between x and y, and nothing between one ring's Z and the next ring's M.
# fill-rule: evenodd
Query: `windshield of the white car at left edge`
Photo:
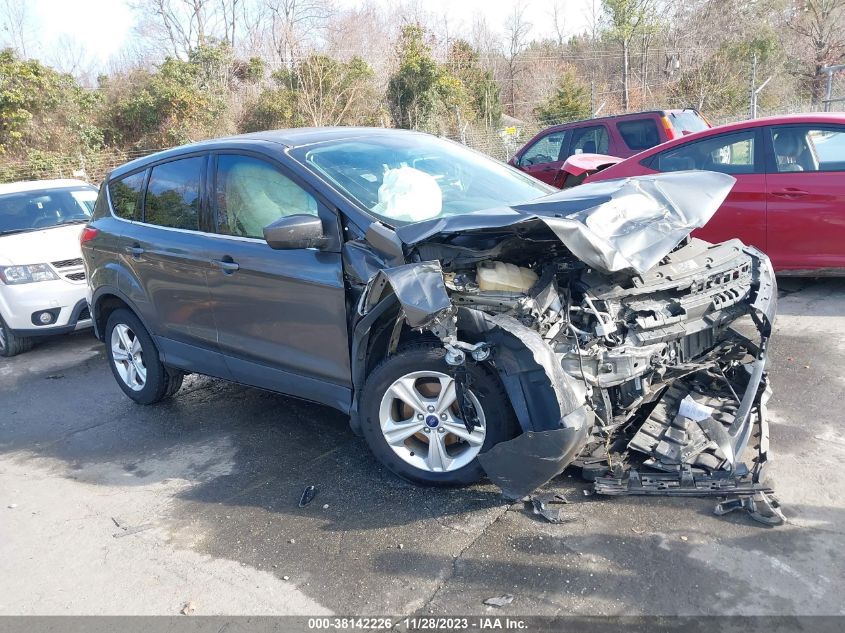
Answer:
M97 190L87 187L0 195L0 235L87 222L96 199Z

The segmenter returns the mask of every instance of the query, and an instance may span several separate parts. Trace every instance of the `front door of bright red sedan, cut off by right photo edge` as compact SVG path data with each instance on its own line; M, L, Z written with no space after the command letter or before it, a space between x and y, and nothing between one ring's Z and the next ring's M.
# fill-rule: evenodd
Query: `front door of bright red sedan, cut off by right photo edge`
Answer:
M766 150L775 268L845 269L845 126L772 126Z

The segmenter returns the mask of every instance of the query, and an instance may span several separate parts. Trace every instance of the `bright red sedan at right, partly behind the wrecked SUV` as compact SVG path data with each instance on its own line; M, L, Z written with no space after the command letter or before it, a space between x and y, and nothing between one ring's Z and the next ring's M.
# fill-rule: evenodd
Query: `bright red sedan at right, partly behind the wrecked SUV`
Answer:
M613 161L578 158L601 167ZM576 165L568 176L584 169L590 165ZM711 128L605 167L584 182L685 169L736 178L696 237L709 242L738 237L768 254L782 274L845 274L845 114L778 116Z

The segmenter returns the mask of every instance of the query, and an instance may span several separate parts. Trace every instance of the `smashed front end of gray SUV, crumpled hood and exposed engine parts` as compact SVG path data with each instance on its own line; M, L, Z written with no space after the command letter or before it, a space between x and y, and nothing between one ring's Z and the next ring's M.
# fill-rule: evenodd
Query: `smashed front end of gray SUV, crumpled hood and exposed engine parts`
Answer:
M733 179L671 176L652 177L653 188L579 187L514 217L397 230L410 263L378 270L359 313L392 291L394 339L401 327L433 334L456 376L466 363L496 368L523 432L479 460L505 496L573 464L600 494L729 497L723 511L777 522L764 482L774 273L738 240L688 236ZM673 189L690 183L685 199ZM759 338L737 331L742 321Z

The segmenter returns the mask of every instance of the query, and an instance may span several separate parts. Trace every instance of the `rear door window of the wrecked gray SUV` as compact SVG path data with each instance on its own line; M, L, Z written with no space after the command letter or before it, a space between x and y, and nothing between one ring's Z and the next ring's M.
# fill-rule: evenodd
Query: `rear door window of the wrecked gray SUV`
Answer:
M144 202L144 222L199 230L200 181L205 157L183 158L153 167Z

